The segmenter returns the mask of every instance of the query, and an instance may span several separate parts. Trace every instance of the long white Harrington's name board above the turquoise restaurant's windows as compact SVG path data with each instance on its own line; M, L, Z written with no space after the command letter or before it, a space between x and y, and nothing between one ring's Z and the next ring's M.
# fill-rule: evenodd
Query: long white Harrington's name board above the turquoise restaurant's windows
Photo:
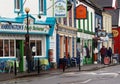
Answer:
M48 25L29 25L29 32L32 33L48 33L49 32ZM0 24L0 31L2 32L26 32L27 25L25 24Z

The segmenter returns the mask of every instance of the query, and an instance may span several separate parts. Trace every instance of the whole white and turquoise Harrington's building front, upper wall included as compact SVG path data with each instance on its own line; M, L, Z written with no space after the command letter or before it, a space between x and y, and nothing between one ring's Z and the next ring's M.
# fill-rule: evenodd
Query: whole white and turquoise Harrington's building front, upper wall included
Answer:
M8 6L5 3L10 5ZM48 5L46 0L0 1L0 9L6 8L6 11L3 11L0 15L0 61L18 60L16 51L19 49L20 71L27 70L25 54L25 34L27 33L26 7L30 9L28 13L28 31L32 56L34 60L38 58L49 60L50 36L53 34L56 20L53 17L49 17L50 14L47 12L52 5L52 1L49 1L48 6L46 5Z

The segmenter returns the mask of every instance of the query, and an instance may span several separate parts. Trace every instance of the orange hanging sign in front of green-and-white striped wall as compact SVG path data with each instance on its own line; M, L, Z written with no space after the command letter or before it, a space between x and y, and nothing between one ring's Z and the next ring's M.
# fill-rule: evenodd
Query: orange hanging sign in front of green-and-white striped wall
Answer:
M79 5L76 7L76 19L86 19L87 18L87 7L84 5Z

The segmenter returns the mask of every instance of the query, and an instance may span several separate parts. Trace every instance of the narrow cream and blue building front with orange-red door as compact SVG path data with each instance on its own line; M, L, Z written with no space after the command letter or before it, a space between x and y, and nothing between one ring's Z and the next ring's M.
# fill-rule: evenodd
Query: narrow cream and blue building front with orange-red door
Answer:
M75 1L69 0L69 3L72 6L67 10L67 17L56 18L56 58L58 67L60 67L64 56L66 58L76 57Z

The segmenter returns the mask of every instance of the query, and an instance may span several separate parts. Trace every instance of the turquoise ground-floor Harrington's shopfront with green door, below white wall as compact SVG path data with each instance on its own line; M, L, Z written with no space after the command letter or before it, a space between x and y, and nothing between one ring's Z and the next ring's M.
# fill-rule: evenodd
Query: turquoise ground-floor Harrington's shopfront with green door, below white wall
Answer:
M36 21L29 15L29 35L32 56L35 59L49 58L49 38L53 34L55 18L47 17L46 21ZM17 18L0 18L0 62L18 61L20 71L26 70L25 34L26 16ZM19 50L19 52L17 51ZM18 55L19 53L19 55ZM48 64L49 66L49 64Z

